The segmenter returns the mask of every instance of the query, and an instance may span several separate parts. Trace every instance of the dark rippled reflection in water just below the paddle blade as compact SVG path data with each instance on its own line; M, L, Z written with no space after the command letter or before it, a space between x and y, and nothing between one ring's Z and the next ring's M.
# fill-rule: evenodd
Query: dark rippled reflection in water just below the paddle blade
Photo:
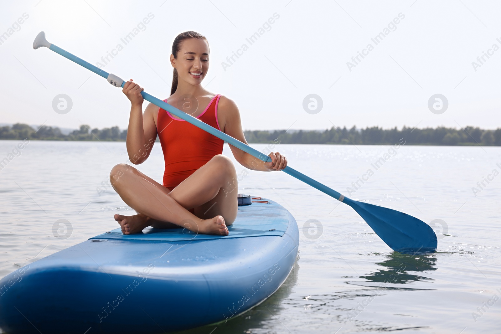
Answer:
M382 262L377 262L383 269L378 269L368 276L359 276L365 278L369 282L382 282L394 284L406 284L412 281L422 281L425 279L433 279L416 274L410 274L410 271L428 271L436 270L434 254L402 254L393 252L388 255L388 259Z

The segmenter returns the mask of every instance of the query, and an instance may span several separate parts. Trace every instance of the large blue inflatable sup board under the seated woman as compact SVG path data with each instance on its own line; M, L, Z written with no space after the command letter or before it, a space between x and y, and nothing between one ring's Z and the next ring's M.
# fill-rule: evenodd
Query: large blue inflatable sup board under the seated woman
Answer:
M120 229L0 281L7 333L158 333L227 321L273 294L298 252L296 220L271 200L238 207L229 235Z

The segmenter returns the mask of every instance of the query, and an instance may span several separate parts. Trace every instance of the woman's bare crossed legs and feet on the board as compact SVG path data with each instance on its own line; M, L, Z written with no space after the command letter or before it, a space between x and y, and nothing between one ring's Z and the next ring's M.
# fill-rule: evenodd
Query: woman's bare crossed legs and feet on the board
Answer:
M111 170L113 188L138 214L115 215L124 234L147 226L181 226L195 233L227 235L236 218L236 171L229 158L218 154L172 190L127 164ZM188 211L194 209L194 214Z

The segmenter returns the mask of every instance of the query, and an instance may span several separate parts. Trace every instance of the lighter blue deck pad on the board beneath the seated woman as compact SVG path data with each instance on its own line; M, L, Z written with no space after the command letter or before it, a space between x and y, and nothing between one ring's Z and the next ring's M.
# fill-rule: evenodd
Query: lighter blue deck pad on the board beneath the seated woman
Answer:
M259 207L259 210L256 210ZM289 224L289 212L281 205L253 203L239 206L238 215L230 226L229 234L211 235L191 232L186 228L158 229L146 228L142 233L123 234L120 228L92 237L90 239L149 240L149 241L186 241L207 239L228 239L253 236L283 236Z

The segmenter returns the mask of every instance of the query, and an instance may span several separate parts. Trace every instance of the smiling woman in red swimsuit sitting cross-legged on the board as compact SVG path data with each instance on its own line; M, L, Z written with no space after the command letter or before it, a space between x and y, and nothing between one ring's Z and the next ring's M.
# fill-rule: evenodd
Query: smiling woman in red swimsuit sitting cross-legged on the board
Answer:
M214 95L200 84L209 69L209 45L196 32L179 34L172 44L174 68L171 95L165 100L243 143L240 115L230 99ZM128 164L111 170L113 188L137 214L116 214L124 234L139 233L147 226L185 227L195 233L227 235L237 213L237 181L233 163L222 155L223 141L149 104L142 112L141 88L128 81L123 93L131 102L127 153L133 164L144 162L159 136L165 159L163 185ZM196 106L207 106L205 109ZM230 145L244 167L280 171L287 159L270 153L265 163ZM177 226L176 226L177 225Z

